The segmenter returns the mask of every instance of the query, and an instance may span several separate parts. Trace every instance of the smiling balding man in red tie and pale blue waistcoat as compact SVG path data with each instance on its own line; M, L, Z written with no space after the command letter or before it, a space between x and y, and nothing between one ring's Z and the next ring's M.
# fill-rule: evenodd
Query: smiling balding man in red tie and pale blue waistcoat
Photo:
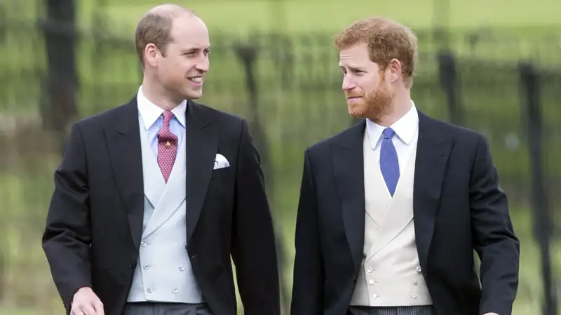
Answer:
M278 315L275 239L244 119L199 105L208 30L175 5L151 9L144 69L126 105L72 126L55 173L45 250L73 315Z

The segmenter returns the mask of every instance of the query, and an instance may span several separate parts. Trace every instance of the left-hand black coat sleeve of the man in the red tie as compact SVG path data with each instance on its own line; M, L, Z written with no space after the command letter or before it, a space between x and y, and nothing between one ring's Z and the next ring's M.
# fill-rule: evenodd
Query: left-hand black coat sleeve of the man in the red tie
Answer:
M91 287L86 153L77 124L72 126L65 155L54 177L55 190L42 245L68 313L76 290Z

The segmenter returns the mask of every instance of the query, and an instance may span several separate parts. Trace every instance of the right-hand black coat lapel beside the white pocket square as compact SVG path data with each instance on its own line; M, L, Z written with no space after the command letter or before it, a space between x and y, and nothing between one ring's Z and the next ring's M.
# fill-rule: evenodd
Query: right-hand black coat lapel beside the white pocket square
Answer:
M218 149L217 126L202 105L189 101L187 124L187 243L203 210Z

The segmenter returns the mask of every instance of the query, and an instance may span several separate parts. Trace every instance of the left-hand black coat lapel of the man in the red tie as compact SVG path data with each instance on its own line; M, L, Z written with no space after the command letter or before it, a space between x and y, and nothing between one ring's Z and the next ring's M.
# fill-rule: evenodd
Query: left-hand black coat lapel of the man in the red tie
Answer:
M104 130L111 168L128 218L130 236L138 248L142 235L144 179L136 95L128 104L114 109L112 118Z

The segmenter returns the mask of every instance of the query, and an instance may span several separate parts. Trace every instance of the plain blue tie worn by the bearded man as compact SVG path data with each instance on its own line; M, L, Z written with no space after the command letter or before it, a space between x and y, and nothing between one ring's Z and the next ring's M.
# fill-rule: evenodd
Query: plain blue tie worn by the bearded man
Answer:
M398 152L396 151L396 147L393 146L393 142L391 142L391 138L395 134L396 132L393 131L392 128L384 129L384 133L382 133L384 138L381 140L380 148L381 175L384 176L386 186L391 196L396 192L399 180Z

